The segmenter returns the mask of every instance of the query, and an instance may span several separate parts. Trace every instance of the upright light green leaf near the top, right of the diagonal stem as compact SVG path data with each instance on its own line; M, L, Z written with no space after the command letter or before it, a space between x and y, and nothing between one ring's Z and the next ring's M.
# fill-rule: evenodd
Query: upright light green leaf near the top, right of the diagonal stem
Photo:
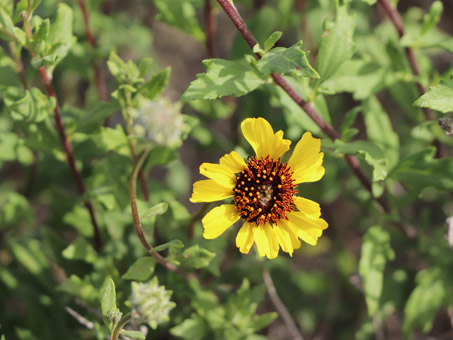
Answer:
M341 64L352 57L355 49L352 39L354 29L354 15L348 13L347 6L339 7L335 21L324 32L319 47L316 70L321 81L329 79Z

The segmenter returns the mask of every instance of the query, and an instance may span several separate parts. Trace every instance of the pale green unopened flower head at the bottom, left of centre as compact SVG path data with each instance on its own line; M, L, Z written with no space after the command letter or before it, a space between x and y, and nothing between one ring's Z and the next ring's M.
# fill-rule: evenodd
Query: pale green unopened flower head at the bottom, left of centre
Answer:
M158 324L168 321L170 311L176 304L170 301L172 291L159 286L155 277L148 283L132 282L131 304L140 315L140 322L145 322L153 329Z

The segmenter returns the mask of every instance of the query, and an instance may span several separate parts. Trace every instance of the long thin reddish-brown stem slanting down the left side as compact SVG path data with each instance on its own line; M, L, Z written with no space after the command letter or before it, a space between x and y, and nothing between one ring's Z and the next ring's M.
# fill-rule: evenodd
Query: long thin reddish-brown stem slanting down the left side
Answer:
M49 76L47 75L45 67L41 66L38 69L38 71L39 71L39 74L41 75L42 82L44 83L44 86L46 87L47 94L49 95L49 97L54 97L56 99L57 96L53 89L52 83L50 82ZM75 164L75 158L74 158L74 153L72 151L72 145L66 136L63 120L61 119L60 105L58 104L58 101L55 105L53 117L55 120L55 124L57 126L58 135L60 136L60 140L63 143L63 148L66 153L66 158L67 158L67 161L69 164L69 168L71 169L72 175L74 176L74 179L76 181L77 188L79 189L79 192L82 195L85 195L85 193L86 193L85 184L83 182L82 175L80 174L79 170L77 170L77 167ZM90 214L91 223L93 225L94 247L99 252L102 248L102 240L101 240L101 234L99 232L99 227L96 222L96 216L94 214L93 205L91 204L91 201L88 199L85 200L84 204L85 204L85 207L88 209L88 212Z

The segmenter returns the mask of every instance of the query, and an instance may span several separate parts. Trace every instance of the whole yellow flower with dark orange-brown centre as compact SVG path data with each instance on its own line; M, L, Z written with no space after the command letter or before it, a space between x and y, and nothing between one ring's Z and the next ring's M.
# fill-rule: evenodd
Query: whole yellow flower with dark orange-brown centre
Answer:
M202 219L204 238L217 238L242 218L236 246L244 254L253 243L259 255L269 259L277 257L280 247L292 256L301 246L299 239L315 245L327 222L320 218L318 203L296 196L296 187L324 175L321 140L306 132L288 163L281 163L291 144L283 131L274 133L263 118L244 120L241 130L256 156L245 162L232 151L219 164L203 163L200 173L209 179L193 185L194 203L233 197L232 204L216 207Z

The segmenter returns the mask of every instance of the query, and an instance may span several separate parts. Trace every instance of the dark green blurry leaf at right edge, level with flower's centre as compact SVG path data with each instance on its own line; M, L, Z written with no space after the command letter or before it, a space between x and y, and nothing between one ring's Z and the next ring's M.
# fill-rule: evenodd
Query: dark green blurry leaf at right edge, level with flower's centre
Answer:
M403 159L389 174L408 189L420 192L425 187L453 191L453 158L435 159L433 147Z

